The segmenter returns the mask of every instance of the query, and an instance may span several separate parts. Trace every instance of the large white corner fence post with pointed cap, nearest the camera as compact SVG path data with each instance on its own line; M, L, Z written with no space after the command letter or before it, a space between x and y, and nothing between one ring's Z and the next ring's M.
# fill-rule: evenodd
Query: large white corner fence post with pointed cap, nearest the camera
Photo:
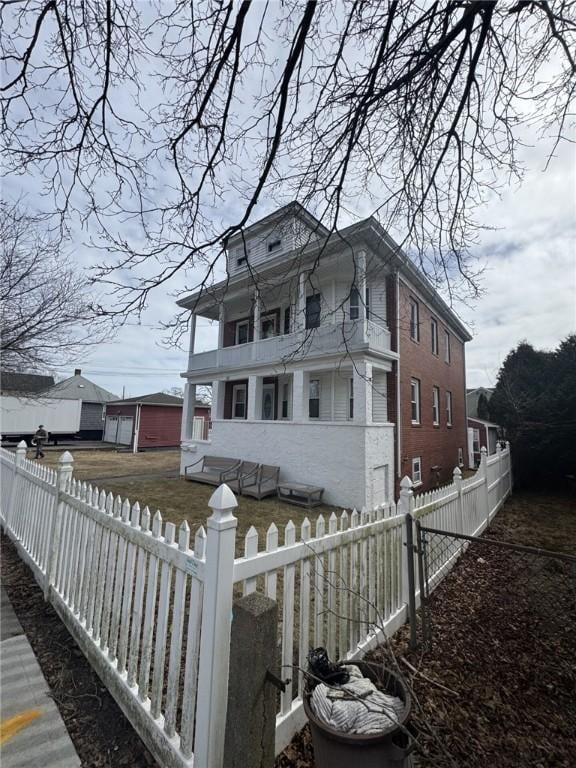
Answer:
M232 626L234 549L238 520L236 497L221 485L208 502L212 515L206 522L206 570L198 670L198 712L194 763L202 768L222 768L228 665Z

